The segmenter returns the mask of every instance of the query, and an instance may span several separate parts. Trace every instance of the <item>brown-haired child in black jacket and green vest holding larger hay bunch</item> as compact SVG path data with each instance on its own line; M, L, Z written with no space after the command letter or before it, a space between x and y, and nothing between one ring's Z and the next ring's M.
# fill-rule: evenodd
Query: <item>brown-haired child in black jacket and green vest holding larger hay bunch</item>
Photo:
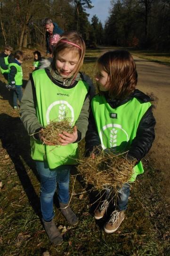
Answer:
M116 154L128 151L127 157L136 160L134 174L130 179L133 182L138 174L144 172L141 159L154 141L155 119L151 99L136 89L138 74L128 51L106 52L98 59L97 68L99 94L91 102L86 155L98 145ZM95 154L91 157L95 158ZM116 231L124 219L130 195L129 182L120 188L118 195L115 206L111 200L108 206L107 197L94 213L95 219L101 219L107 207L110 207L112 214L104 225L107 233Z

